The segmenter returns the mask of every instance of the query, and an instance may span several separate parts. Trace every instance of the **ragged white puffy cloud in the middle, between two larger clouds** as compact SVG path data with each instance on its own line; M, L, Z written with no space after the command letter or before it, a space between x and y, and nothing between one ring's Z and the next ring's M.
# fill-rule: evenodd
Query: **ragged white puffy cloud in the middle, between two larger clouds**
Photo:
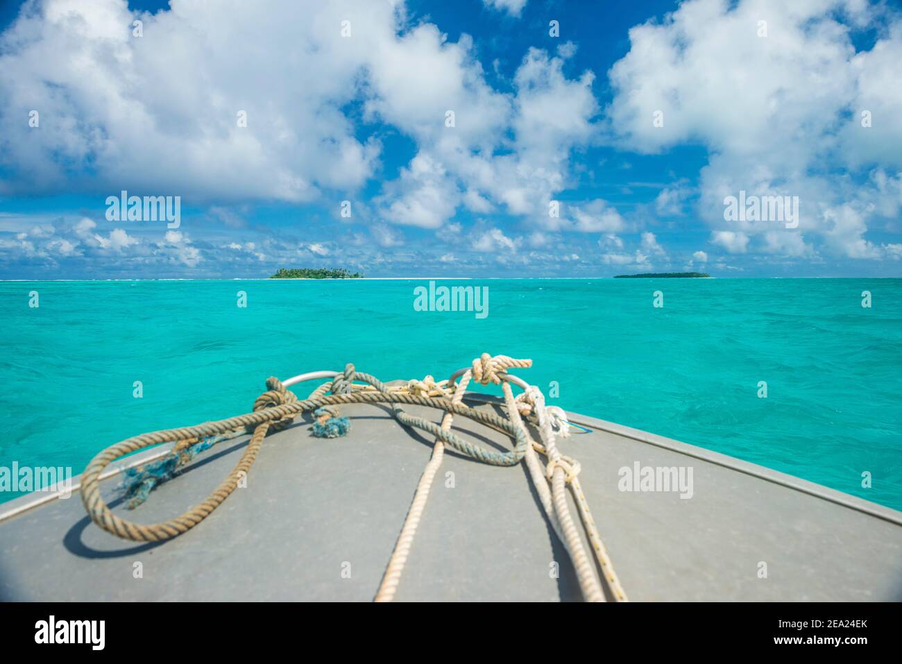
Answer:
M571 150L596 130L594 74L566 77L573 49L554 57L532 48L514 75L514 91L502 93L485 83L469 38L448 44L435 30L415 34L418 51L401 53L385 68L409 90L396 96L410 100L389 104L384 99L391 95L383 95L368 106L419 145L399 180L386 187L382 218L436 228L463 204L478 213L501 208L557 229L548 204L571 178ZM376 87L394 89L391 81L377 80Z

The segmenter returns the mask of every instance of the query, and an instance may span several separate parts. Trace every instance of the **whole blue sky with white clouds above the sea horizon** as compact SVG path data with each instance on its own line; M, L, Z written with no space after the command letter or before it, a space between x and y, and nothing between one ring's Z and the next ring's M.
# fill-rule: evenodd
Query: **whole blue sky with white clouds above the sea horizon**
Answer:
M31 0L0 30L2 279L902 276L897 3ZM178 227L108 218L122 190Z

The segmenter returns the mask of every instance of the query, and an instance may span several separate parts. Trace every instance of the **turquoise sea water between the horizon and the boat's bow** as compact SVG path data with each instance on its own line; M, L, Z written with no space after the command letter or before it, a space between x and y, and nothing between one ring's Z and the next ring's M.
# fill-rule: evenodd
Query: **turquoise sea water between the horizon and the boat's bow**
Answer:
M251 410L269 375L440 379L487 351L532 358L520 375L566 410L902 509L902 280L438 282L487 286L482 319L415 311L427 283L0 283L0 466L79 473L122 438Z

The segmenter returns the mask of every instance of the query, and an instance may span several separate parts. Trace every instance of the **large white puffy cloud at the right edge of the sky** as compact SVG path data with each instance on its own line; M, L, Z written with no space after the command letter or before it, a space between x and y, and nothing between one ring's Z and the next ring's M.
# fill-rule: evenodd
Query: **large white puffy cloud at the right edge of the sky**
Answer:
M686 0L630 30L630 51L610 71L612 137L649 153L703 144L699 210L713 242L732 253L809 255L805 238L817 238L831 254L880 258L886 253L864 236L879 191L862 190L846 170L902 161L902 92L893 83L902 23L887 14L888 29L860 52L849 27L881 12L844 0ZM805 238L778 234L781 220L724 221L723 198L741 190L797 196ZM662 190L658 213L678 214L681 198ZM750 245L750 235L761 241Z

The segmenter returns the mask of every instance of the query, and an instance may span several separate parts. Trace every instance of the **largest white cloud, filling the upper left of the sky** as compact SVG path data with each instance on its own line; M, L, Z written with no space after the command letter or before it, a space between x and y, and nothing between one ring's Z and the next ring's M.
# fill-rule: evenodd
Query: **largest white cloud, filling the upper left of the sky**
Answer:
M0 43L0 124L13 127L0 159L17 174L5 189L65 188L60 163L90 166L101 192L128 183L149 194L303 201L321 188L359 187L378 145L356 140L338 109L359 94L373 42L396 41L394 11L273 5L223 11L177 0L157 14L121 0L26 6ZM135 38L139 15L144 36ZM354 39L340 36L344 18L358 26ZM41 114L37 129L27 125L31 109Z

